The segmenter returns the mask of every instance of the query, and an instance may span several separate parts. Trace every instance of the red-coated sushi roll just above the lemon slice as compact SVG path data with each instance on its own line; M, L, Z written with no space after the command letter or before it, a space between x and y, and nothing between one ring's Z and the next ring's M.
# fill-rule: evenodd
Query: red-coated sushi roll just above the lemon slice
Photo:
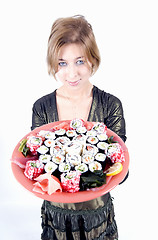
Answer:
M116 162L122 163L125 161L125 155L119 143L109 144L107 157L111 159L112 163L116 163Z

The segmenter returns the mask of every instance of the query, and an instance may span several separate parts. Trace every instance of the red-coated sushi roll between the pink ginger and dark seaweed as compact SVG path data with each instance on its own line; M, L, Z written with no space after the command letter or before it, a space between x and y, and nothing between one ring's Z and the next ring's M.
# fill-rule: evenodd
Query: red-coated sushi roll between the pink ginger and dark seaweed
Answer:
M78 192L80 190L80 173L78 171L70 171L61 174L61 186L65 192Z

